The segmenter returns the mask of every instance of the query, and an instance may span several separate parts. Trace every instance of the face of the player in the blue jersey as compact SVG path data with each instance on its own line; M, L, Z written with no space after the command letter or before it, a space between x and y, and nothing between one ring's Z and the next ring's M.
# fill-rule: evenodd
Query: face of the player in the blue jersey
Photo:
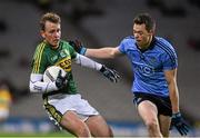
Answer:
M133 36L137 45L142 49L146 49L152 40L152 31L146 29L146 24L133 24Z

